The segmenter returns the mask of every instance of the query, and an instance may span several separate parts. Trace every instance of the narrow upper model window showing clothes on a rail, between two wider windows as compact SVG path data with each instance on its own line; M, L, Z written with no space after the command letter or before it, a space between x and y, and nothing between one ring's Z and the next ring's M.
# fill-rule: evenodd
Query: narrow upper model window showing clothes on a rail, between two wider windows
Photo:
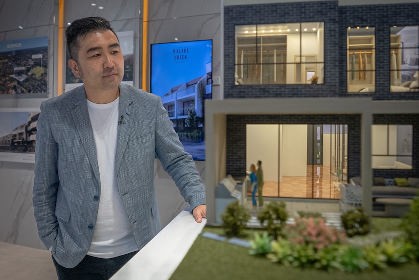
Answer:
M347 28L348 93L375 92L375 28Z

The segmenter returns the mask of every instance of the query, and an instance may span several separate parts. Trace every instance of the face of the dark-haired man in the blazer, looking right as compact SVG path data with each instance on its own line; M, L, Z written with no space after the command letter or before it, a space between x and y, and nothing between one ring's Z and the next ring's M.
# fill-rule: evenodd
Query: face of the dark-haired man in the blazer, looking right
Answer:
M118 89L124 67L115 34L110 30L90 32L79 38L79 46L77 61L70 59L69 66L83 80L86 91Z

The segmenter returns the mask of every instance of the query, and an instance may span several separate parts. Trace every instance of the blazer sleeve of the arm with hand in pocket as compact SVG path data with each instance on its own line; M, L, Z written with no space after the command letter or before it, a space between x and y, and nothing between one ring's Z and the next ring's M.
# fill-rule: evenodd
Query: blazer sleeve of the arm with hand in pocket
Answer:
M39 237L50 248L57 236L58 222L55 204L59 186L57 158L58 145L54 141L45 101L36 124L35 179L33 205Z

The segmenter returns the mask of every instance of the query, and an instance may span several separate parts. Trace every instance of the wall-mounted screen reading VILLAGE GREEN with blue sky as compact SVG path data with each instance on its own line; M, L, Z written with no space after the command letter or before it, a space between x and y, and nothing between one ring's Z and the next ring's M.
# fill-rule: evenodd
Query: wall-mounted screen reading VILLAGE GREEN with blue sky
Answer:
M212 98L212 40L151 45L151 93L194 160L205 160L205 99Z

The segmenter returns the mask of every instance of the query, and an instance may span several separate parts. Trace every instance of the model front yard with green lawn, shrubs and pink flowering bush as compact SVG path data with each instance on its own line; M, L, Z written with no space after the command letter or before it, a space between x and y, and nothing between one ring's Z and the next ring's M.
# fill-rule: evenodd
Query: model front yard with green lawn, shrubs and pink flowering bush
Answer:
M301 213L295 224L243 227L235 234L226 230L225 222L234 221L224 217L222 227L206 226L203 233L226 236L227 240L198 236L171 279L409 280L419 275L418 198L405 218L372 218L370 232L362 229L360 215L347 215L345 232L329 228L320 216ZM263 213L258 213L261 217ZM350 232L347 227L355 230ZM237 235L251 247L228 242Z

